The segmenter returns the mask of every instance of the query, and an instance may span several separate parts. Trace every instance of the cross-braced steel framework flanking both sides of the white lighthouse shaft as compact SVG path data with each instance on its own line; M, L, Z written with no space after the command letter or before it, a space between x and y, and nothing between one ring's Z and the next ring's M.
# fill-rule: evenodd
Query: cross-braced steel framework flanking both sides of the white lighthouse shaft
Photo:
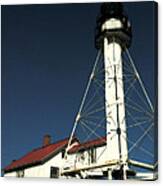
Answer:
M121 135L128 144L128 165L136 171L155 171L157 168L154 150L155 131L157 130L154 122L155 109L128 49L125 50L122 58L125 117L120 122L126 121L127 131L122 131ZM73 124L65 157L68 156L68 149L74 136L83 144L97 138L105 141L103 137L107 135L105 115L107 103L104 77L107 72L105 72L103 60L102 52L99 50ZM121 82L122 80L117 83ZM112 86L112 81L109 86ZM151 86L153 88L153 85ZM108 106L112 107L112 105ZM127 134L124 135L124 133ZM106 148L102 153L105 150Z

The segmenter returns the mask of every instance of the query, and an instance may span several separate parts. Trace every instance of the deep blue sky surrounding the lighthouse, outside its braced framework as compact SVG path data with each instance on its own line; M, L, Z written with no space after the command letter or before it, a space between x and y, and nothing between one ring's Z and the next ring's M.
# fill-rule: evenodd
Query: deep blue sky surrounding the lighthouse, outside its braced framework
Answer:
M152 3L124 3L130 51L153 99ZM68 137L96 55L100 4L2 6L2 167Z

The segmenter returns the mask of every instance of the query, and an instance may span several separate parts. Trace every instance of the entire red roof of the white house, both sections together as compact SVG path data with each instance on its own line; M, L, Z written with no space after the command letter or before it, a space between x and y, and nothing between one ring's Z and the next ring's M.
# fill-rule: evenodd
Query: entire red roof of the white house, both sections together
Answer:
M76 138L74 138L77 140ZM37 165L44 161L46 161L48 158L53 156L55 153L60 151L61 149L64 149L68 144L68 138L58 141L56 143L50 144L45 147L41 147L38 149L34 149L33 151L27 153L25 156L20 158L19 160L13 161L11 164L9 164L7 167L5 167L4 171L12 171L17 168L23 168L27 166ZM77 140L78 141L78 140ZM90 148L93 146L100 146L106 144L106 137L102 137L100 139L91 140L82 144L78 144L73 146L69 153L75 153L79 150L83 150L86 148Z

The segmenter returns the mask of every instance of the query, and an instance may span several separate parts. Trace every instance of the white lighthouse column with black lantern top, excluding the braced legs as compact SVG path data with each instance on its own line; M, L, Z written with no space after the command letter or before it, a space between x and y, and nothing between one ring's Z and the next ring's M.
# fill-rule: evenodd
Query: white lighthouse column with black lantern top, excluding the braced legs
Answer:
M126 179L128 169L122 53L130 47L131 38L131 24L124 15L122 4L102 4L95 44L104 57L107 158L108 161L118 160L116 171L122 179Z

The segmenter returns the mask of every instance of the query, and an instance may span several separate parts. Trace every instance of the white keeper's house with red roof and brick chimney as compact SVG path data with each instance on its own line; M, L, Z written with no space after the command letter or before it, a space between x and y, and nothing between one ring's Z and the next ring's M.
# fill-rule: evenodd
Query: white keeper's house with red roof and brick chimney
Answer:
M96 165L106 161L106 138L95 139L82 144L74 138L65 160L67 145L68 139L51 143L51 137L46 135L42 147L12 161L4 168L4 176L59 178L62 176L61 169L63 170L63 168L68 171L89 166L96 167ZM96 173L91 171L90 174L97 176L103 174L101 171L105 170L100 169L99 172L98 169L95 169L95 171ZM73 177L73 174L71 176Z

